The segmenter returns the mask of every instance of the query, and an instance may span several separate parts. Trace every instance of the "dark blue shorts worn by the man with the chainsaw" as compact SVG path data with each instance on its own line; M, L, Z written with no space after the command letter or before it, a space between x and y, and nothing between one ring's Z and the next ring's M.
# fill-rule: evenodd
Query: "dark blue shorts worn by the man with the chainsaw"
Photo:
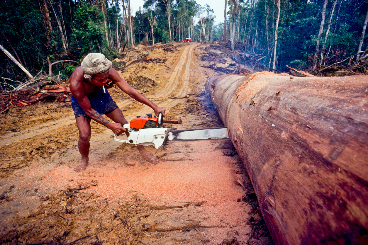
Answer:
M118 107L110 96L109 92L107 92L106 89L105 91L106 93L104 93L103 88L101 88L97 92L87 95L92 109L101 115L109 114ZM82 107L79 105L77 99L75 99L73 95L71 96L71 107L73 108L75 118L83 116L91 119L86 115Z

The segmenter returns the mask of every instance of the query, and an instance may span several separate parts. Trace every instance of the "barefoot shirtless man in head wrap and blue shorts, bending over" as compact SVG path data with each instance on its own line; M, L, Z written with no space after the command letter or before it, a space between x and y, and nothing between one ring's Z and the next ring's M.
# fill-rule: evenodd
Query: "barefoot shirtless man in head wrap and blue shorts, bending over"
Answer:
M116 135L121 135L127 131L122 127L122 125L128 123L127 120L125 120L123 113L103 87L111 81L133 99L151 107L156 115L162 113L165 116L165 110L132 88L112 68L112 62L107 60L103 54L88 54L83 59L81 66L75 68L70 77L72 108L79 130L78 149L82 156L81 161L74 168L76 172L84 171L88 165L91 119L111 129ZM102 114L105 114L115 123L107 121L101 116ZM127 134L127 132L125 133ZM144 146L137 145L137 149L144 160L154 164L158 163L158 159L149 155Z

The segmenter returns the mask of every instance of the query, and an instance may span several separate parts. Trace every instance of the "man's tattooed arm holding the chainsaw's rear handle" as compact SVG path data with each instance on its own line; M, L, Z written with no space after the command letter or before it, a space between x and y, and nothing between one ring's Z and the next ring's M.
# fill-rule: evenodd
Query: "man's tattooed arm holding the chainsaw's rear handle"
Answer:
M81 76L82 78L80 78ZM83 86L83 72L82 74L80 74L80 71L78 70L75 71L75 73L73 72L73 74L70 77L70 91L75 97L75 99L77 99L79 105L82 107L87 116L91 117L97 123L102 124L105 127L111 129L116 135L120 135L126 131L125 128L121 127L121 124L110 123L100 113L92 109L91 103L89 102L89 99L86 96L85 88Z

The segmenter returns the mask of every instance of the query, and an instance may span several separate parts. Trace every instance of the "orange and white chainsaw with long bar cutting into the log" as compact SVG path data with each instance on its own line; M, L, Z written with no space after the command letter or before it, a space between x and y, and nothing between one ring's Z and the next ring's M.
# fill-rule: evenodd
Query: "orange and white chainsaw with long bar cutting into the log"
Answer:
M128 139L114 139L118 142L133 145L153 145L156 149L164 149L168 141L201 141L208 139L228 139L227 127L179 129L171 130L162 128L162 113L159 116L146 114L137 116L130 123L124 124L123 128L128 130Z

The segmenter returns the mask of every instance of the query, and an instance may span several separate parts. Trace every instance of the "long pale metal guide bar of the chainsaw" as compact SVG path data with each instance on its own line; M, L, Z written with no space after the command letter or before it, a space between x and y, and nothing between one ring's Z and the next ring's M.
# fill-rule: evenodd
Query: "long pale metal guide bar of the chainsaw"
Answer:
M167 141L203 141L229 139L227 127L170 130Z

